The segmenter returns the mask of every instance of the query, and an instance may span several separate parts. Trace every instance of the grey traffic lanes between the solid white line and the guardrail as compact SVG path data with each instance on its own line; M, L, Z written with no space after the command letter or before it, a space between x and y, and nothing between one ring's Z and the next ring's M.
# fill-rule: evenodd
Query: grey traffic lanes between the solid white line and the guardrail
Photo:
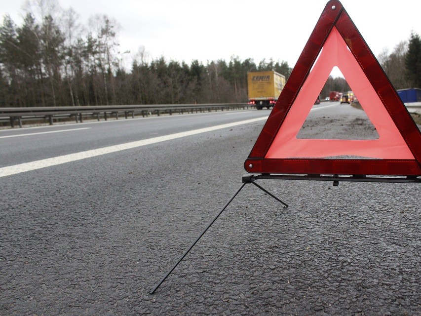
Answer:
M326 114L336 105L314 110ZM267 116L268 111L249 110L1 130L0 167Z

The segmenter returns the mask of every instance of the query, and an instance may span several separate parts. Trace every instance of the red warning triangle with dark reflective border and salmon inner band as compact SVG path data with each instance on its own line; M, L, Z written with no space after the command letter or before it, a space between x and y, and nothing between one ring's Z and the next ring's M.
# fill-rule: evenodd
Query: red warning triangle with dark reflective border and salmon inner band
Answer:
M379 139L297 139L334 66ZM363 158L323 158L340 156ZM340 1L324 8L244 167L250 173L421 175L420 130Z

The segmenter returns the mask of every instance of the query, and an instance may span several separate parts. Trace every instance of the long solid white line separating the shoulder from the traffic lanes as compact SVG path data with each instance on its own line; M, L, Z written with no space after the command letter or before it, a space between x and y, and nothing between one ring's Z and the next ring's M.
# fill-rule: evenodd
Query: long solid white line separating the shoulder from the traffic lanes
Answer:
M182 137L197 135L197 134L201 134L201 133L211 132L211 131L218 130L218 129L243 125L243 124L247 124L247 123L253 123L253 122L257 122L257 121L264 120L264 119L267 119L267 118L268 117L246 119L246 120L241 120L241 121L238 121L238 122L233 122L233 123L228 123L228 124L222 124L222 125L216 125L216 126L211 126L211 127L193 129L193 130L181 132L181 133L158 136L158 137L153 137L153 138L149 138L149 139L139 140L139 141L120 144L120 145L114 145L114 146L109 146L109 147L104 147L104 148L92 149L92 150L88 150L88 151L80 152L80 153L75 153L75 154L69 154L69 155L53 157L53 158L46 158L46 159L41 159L41 160L36 160L36 161L31 161L31 162L20 163L20 164L16 164L16 165L13 165L13 166L2 167L2 168L0 168L0 178L5 177L5 176L9 176L9 175L13 175L13 174L22 173L22 172L27 172L27 171L37 170L37 169L41 169L41 168L45 168L45 167L50 167L50 166L54 166L54 165L58 165L58 164L66 163L66 162L77 161L77 160L81 160L81 159L111 154L111 153L119 152L119 151L126 150L126 149L133 149L133 148L137 148L137 147L141 147L141 146L156 144L156 143L160 143L160 142L164 142L164 141L172 140L172 139L176 139L176 138L182 138Z

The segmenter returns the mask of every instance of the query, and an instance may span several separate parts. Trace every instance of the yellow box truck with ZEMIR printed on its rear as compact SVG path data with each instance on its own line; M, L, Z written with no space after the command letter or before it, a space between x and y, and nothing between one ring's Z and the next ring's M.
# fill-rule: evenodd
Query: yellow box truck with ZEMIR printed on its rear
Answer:
M247 73L248 104L256 109L273 107L285 86L285 76L275 71Z

